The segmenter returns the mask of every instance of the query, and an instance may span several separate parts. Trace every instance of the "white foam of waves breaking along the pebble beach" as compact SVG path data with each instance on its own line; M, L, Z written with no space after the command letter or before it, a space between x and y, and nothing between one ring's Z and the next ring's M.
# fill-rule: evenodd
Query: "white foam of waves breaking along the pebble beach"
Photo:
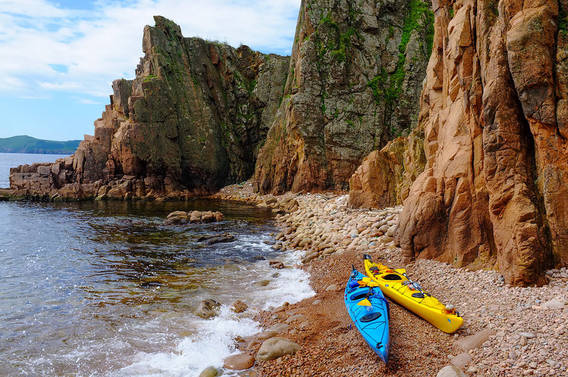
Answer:
M280 259L285 265L293 266L300 260L300 253L285 253ZM224 285L217 287L214 298L224 301L218 317L205 320L190 315L192 326L195 327L192 329L195 330L192 331L194 334L181 339L175 351L155 354L140 352L136 354L133 364L117 371L116 375L199 376L208 366L222 368L227 356L239 353L234 344L235 337L249 337L261 331L258 322L239 317L229 309L229 301L236 292L250 307L262 310L282 305L283 302L293 304L315 295L310 287L310 276L299 268L275 270L269 268L268 261L259 261L234 273L227 276ZM264 287L251 285L258 280L270 280L270 283ZM232 294L231 286L234 288Z

